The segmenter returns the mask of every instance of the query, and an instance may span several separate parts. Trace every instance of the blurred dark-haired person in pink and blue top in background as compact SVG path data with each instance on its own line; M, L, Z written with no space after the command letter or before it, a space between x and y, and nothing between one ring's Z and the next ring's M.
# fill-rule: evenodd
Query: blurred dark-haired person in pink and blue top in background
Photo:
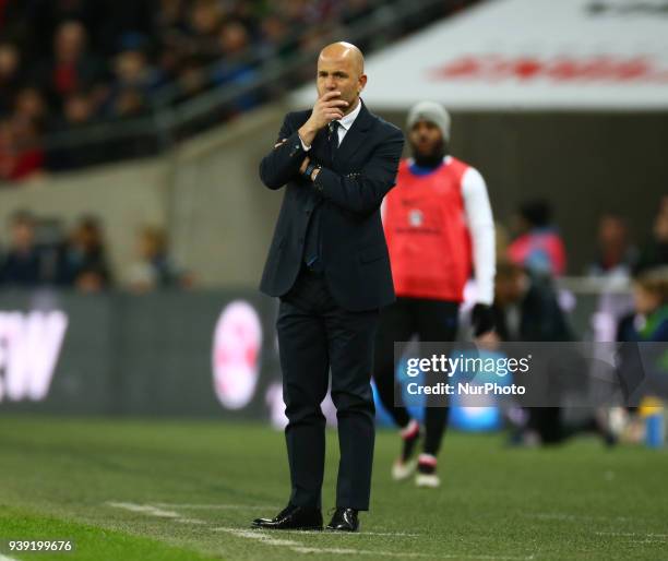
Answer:
M523 203L518 210L516 229L518 236L508 248L513 263L537 273L562 275L565 272L565 248L552 224L552 210L547 201Z

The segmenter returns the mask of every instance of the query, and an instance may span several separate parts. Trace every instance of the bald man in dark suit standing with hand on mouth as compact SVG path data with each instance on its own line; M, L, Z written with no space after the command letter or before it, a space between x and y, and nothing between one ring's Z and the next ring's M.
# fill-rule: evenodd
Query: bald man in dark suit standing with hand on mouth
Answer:
M276 322L288 426L291 493L255 527L321 529L325 419L332 372L341 462L326 526L357 532L369 509L374 442L370 386L380 308L394 301L381 202L395 182L404 138L360 98L363 58L347 43L318 59L318 102L285 117L260 177L286 186L261 290L281 298Z

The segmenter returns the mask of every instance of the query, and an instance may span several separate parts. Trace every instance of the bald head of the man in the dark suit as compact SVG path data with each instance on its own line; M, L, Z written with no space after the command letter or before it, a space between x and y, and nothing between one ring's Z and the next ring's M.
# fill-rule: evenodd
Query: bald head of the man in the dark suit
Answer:
M355 45L345 41L332 43L318 57L318 95L339 92L347 102L349 112L357 107L359 94L367 85L365 57Z

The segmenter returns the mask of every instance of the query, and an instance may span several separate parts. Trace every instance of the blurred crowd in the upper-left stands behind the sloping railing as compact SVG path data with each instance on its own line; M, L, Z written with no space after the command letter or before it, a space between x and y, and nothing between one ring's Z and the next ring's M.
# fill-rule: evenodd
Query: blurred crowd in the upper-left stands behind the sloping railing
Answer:
M72 143L69 133L155 117L211 88L260 84L259 74L317 52L332 34L346 36L372 13L383 11L392 21L394 3L0 0L0 183L154 153L164 140L139 133L114 140L107 132L104 142L74 136ZM371 51L473 0L432 3L414 17L395 14L391 28L356 41ZM186 132L225 121L311 79L311 69L301 65L273 88L264 81ZM151 123L153 135L157 128Z

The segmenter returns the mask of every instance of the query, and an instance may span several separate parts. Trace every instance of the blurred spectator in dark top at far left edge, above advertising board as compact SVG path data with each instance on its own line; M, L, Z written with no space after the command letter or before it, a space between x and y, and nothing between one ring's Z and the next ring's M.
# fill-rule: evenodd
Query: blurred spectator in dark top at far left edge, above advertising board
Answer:
M11 287L37 286L41 277L35 218L26 211L19 211L11 218L10 230L10 246L0 265L0 283Z

